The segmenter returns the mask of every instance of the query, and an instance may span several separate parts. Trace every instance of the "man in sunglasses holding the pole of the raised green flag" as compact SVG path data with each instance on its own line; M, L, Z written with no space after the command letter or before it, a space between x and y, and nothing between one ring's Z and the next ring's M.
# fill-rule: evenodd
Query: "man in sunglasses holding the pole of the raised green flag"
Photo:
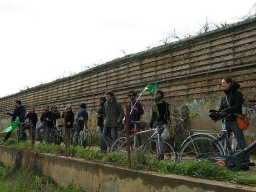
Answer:
M129 129L132 131L135 128L135 125L131 121L140 121L141 115L144 114L142 104L136 100L137 92L131 90L127 93L130 103L127 105L129 112ZM136 125L137 131L140 131L140 125ZM137 145L141 145L140 135L136 135Z

